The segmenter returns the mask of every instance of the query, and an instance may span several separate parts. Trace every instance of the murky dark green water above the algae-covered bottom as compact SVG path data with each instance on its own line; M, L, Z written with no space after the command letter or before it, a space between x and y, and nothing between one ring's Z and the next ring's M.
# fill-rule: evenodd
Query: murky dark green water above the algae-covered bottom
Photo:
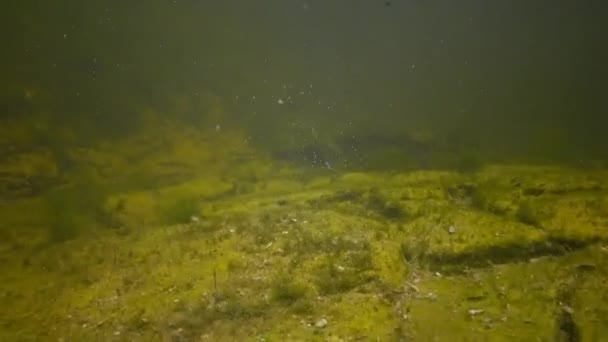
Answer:
M211 93L226 109L218 124L263 148L421 135L487 160L606 160L604 7L13 1L0 20L1 115L48 113L87 143L137 129L145 107L209 125L194 99ZM197 105L176 110L176 98Z

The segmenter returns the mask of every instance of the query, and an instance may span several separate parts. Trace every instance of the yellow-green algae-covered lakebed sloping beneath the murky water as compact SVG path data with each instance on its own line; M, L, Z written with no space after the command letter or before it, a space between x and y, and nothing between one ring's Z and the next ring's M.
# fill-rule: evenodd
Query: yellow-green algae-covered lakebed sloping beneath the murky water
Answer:
M606 171L303 170L184 130L70 156L3 163L2 341L608 340Z

